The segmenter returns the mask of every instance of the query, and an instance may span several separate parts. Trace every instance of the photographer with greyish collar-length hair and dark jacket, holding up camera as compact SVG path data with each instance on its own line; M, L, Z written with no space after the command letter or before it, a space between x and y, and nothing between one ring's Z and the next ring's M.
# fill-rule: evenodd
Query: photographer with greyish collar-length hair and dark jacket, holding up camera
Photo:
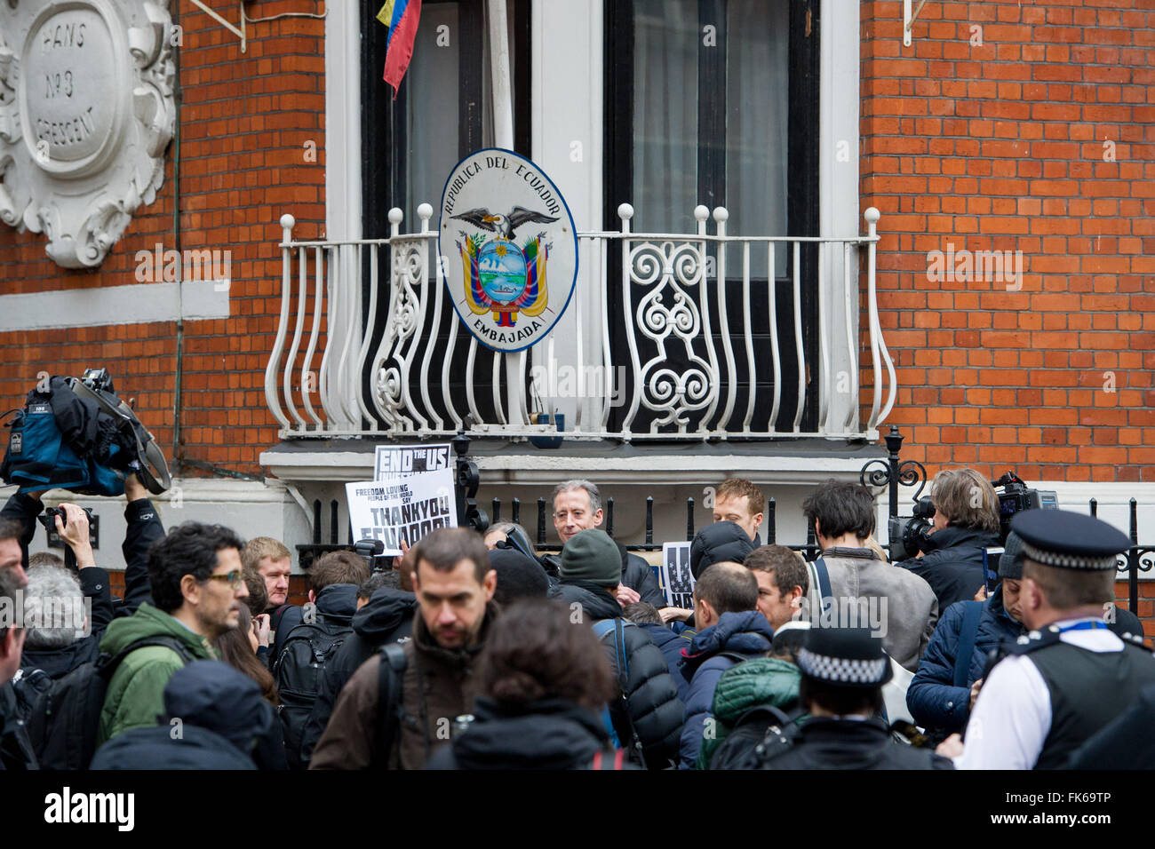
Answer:
M927 523L931 505L933 520ZM925 580L934 590L939 610L974 599L986 582L983 549L1000 544L999 499L994 487L973 469L942 469L931 481L930 505L925 498L921 499L915 519L907 523L901 538L917 546L921 553L901 559L902 553L892 549L895 566ZM899 535L891 535L892 544L895 536Z

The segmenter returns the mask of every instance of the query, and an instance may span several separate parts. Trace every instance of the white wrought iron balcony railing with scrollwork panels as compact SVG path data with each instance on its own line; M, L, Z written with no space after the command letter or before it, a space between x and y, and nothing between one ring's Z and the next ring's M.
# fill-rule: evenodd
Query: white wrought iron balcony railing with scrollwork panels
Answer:
M624 203L620 230L578 234L574 297L529 356L479 348L460 327L446 260L430 262L432 213L423 203L420 231L401 233L402 213L392 209L389 238L352 241L293 241L296 222L282 216L281 316L264 372L282 439L411 439L461 427L542 437L558 431L559 414L571 438L875 438L894 405L873 207L864 215L866 236L798 238L728 236L721 207L713 216L694 210L696 233L634 233L634 210ZM780 251L784 281L774 274ZM807 315L817 315L817 327ZM867 341L873 392L863 425L858 375Z

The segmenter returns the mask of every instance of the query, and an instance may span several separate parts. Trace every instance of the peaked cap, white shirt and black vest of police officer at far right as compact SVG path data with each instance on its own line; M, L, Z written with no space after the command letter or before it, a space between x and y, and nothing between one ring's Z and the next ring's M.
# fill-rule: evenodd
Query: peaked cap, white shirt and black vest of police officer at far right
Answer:
M1115 572L1131 541L1098 519L1027 511L1012 530L1021 557L1064 569ZM1155 684L1140 636L1100 617L1061 619L1020 636L990 671L967 725L960 769L1056 769Z

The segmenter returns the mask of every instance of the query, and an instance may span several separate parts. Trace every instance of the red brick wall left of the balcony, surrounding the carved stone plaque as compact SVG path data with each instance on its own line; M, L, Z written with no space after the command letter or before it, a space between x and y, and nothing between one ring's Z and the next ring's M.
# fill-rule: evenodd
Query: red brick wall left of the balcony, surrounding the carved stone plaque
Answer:
M229 319L186 321L180 457L258 472L259 453L276 442L264 404L267 352L281 303L278 219L291 210L298 238L325 222L325 22L285 18L248 25L240 40L187 0L179 12L180 239L184 248L231 251ZM214 8L238 23L237 6ZM325 12L318 0L249 2L251 17ZM174 14L174 21L178 20ZM305 161L305 141L316 162ZM176 142L164 186L140 208L95 271L59 268L46 238L0 226L3 292L39 292L137 283L135 253L177 246L173 236ZM141 419L172 461L174 322L0 334L0 409L16 405L39 371L79 374L104 365L135 397ZM228 430L223 427L228 425ZM187 470L196 474L194 469Z

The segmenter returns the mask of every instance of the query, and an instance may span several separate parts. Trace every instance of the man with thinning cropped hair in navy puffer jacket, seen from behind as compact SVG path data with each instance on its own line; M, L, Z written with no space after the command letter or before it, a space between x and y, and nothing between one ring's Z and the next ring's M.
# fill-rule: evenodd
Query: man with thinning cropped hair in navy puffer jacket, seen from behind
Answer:
M702 732L713 716L714 687L722 673L770 650L774 630L757 604L758 581L736 563L714 564L694 586L694 620L701 630L683 650L681 675L690 682L690 697L681 728L680 769L693 769L698 762Z

